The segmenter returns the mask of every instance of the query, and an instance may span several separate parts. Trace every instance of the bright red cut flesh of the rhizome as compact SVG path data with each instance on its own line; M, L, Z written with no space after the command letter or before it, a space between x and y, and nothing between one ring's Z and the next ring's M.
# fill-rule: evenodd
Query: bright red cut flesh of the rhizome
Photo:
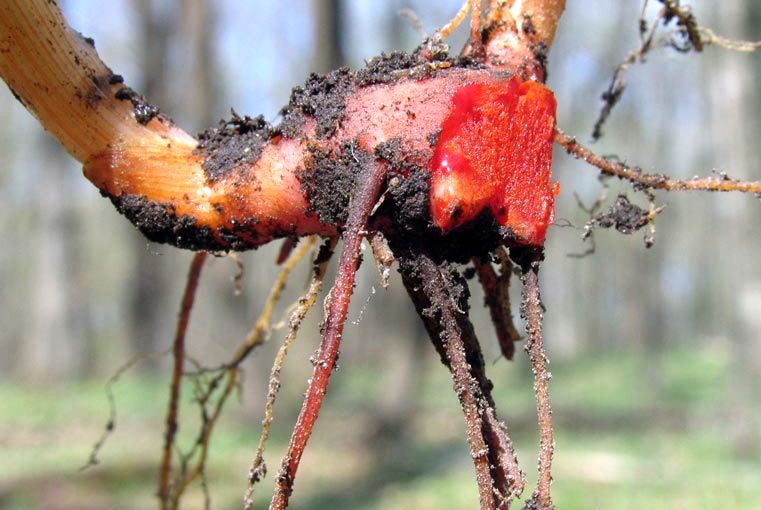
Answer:
M487 207L516 242L541 246L554 219L555 96L521 81L461 87L431 158L431 215L448 232Z

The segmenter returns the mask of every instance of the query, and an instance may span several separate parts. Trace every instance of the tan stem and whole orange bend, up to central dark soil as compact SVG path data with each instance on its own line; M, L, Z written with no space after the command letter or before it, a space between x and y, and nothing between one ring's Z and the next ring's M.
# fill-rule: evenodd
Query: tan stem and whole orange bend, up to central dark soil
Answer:
M294 174L304 144L269 143L212 182L197 141L126 87L55 2L0 0L0 77L153 241L216 251L335 234L309 215Z

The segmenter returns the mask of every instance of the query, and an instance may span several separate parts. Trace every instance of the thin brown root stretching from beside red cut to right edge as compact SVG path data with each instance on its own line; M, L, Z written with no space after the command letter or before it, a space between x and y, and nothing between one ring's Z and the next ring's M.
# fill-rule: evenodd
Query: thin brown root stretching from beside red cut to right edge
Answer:
M671 179L664 174L644 173L638 167L629 167L622 163L598 156L591 149L581 145L575 138L563 131L555 131L555 142L569 154L597 167L606 175L627 180L639 188L662 189L666 191L739 191L741 193L761 193L761 181L742 181L731 179L719 173L716 176L696 177L694 179Z

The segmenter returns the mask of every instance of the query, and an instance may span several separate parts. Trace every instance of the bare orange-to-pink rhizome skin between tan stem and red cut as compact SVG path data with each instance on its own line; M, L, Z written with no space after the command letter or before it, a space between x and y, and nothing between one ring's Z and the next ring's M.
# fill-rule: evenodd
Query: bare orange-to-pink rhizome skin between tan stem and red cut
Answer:
M194 154L195 140L171 128L160 145L109 146L87 160L84 171L108 196L142 196L176 217L192 218L196 228L214 235L212 249L252 248L292 235L335 235L341 225L321 223L301 188L298 175L309 160L308 147L333 150L358 141L372 151L399 138L405 153L417 159L411 162L427 167L433 155L429 135L439 131L455 93L466 85L507 80L503 72L453 68L431 78L360 88L347 97L331 138L318 139L314 119L307 119L301 138L276 136L254 164L213 181L201 167L202 156Z

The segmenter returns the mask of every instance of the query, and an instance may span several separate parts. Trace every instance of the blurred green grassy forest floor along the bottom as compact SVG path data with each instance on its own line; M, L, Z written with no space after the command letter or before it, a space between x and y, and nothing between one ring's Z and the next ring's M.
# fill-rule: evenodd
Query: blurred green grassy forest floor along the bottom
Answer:
M726 355L671 350L658 361L631 352L553 363L559 509L761 508L761 462L737 452L728 434ZM415 388L413 424L404 438L368 437L383 373L344 364L304 458L294 508L475 508L477 493L451 380L430 360ZM536 431L525 360L490 367L495 398L519 459L533 480ZM655 377L653 377L655 374ZM166 381L127 374L114 387L117 429L101 464L77 470L108 417L103 381L22 388L0 384L0 508L35 510L156 506ZM186 388L186 395L189 395ZM197 413L181 414L188 445ZM259 419L235 401L219 423L209 458L214 508L239 508ZM296 402L281 402L267 459L282 454ZM286 411L286 408L287 411ZM260 487L266 506L272 475ZM530 494L530 488L526 494ZM203 508L197 488L184 508ZM517 505L519 506L519 505Z

